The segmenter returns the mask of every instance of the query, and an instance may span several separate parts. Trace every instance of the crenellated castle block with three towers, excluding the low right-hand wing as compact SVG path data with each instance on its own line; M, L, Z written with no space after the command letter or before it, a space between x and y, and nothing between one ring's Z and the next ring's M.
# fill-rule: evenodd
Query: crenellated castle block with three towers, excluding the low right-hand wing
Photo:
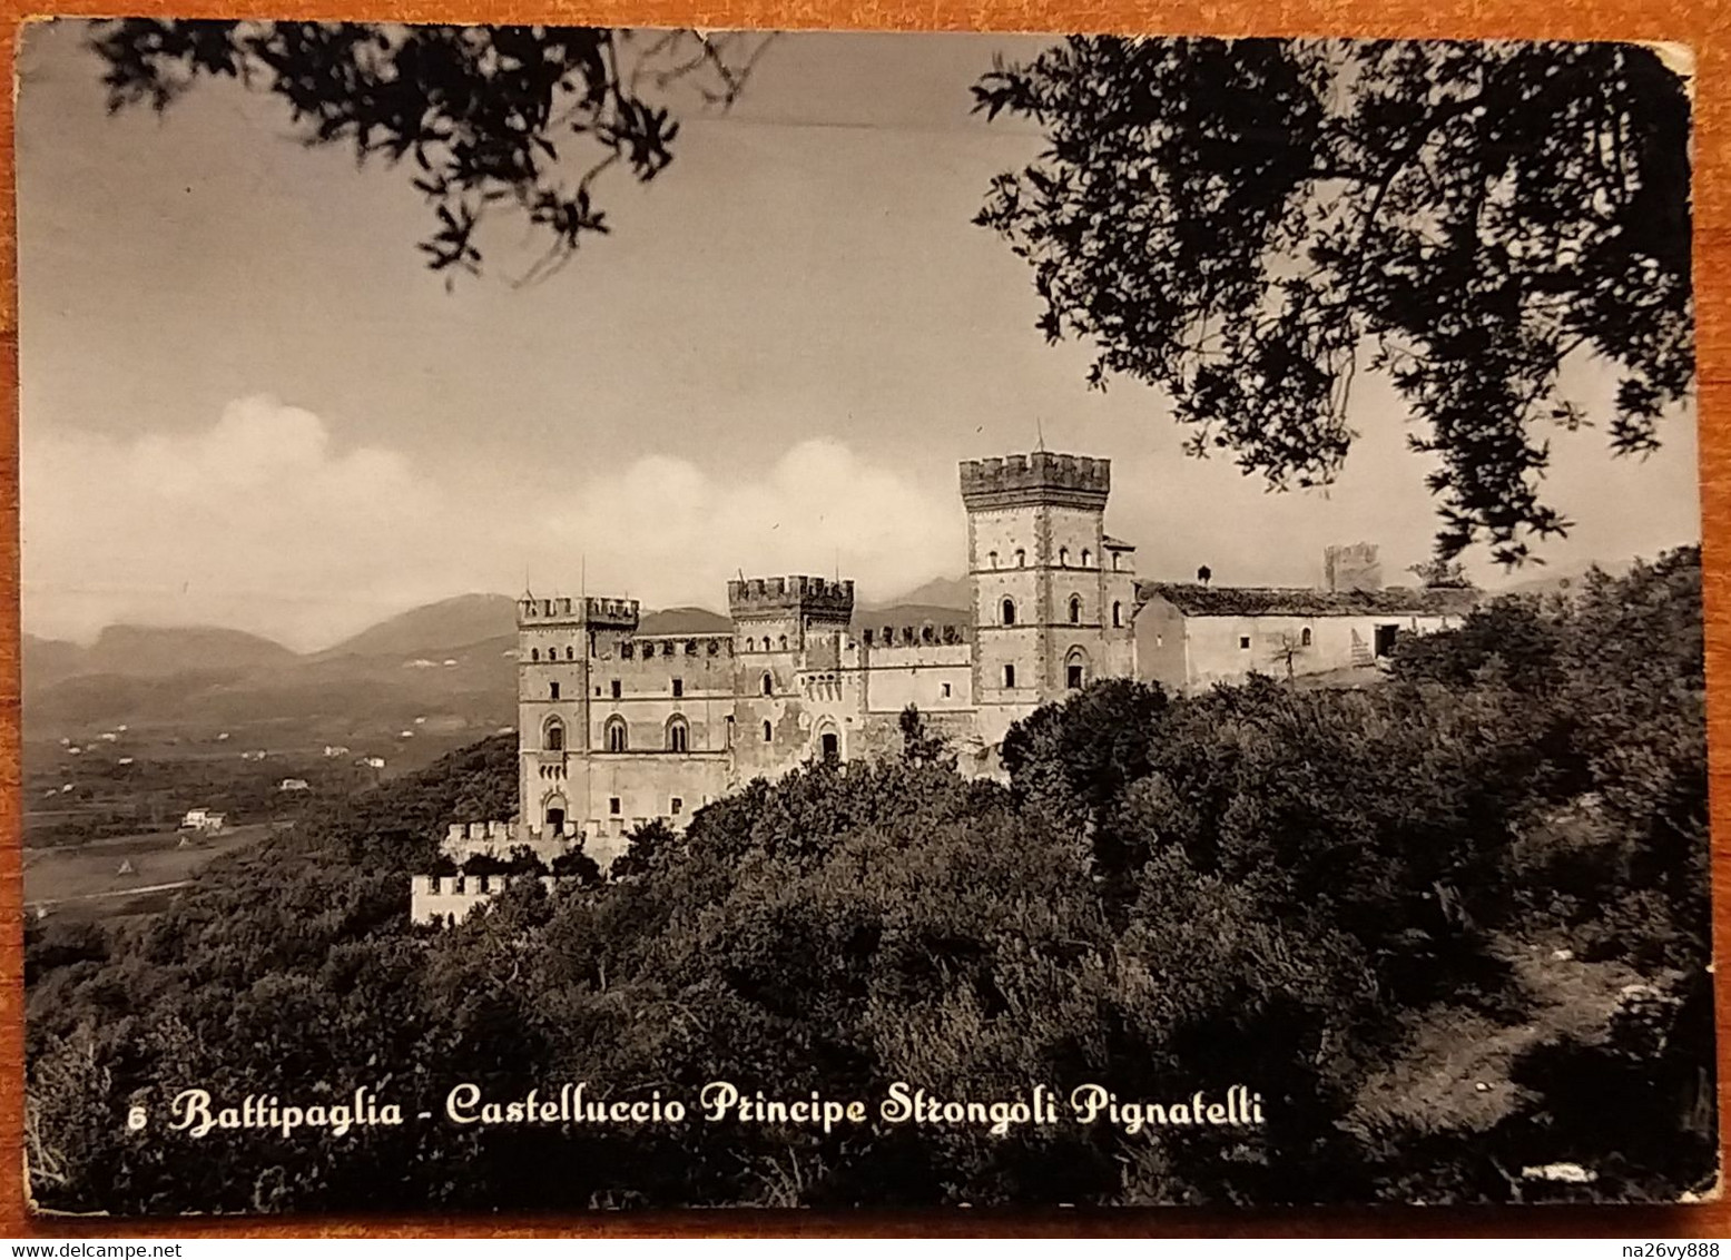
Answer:
M684 832L744 784L898 755L909 708L964 772L1004 777L992 749L1014 722L1096 678L1136 677L1136 578L1129 545L1104 533L1110 488L1110 460L1087 455L962 462L969 575L956 609L911 597L855 621L852 582L798 573L739 573L730 621L524 592L516 819L441 826L440 867L521 869L528 850L549 869L583 853L611 872L651 822ZM457 922L507 886L419 876L412 916Z

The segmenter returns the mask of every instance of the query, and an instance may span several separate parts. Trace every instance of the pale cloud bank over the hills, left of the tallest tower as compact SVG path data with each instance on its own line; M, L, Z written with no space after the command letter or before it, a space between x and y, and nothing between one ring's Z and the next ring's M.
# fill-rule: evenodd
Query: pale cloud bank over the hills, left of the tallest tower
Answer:
M644 455L486 469L441 485L341 448L313 412L241 398L206 429L116 440L24 431L24 627L227 625L319 647L469 590L625 594L720 608L725 582L831 573L895 595L962 562L952 493L807 441L755 478Z

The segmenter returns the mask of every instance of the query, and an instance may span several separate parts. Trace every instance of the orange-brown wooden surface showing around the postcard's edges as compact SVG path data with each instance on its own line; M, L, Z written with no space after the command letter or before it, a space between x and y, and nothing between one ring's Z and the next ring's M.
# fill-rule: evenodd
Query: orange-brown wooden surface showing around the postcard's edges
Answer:
M17 26L42 16L3 0L0 61L12 76ZM299 17L789 29L1118 31L1153 35L1357 35L1383 38L1663 40L1696 55L1695 284L1707 597L1715 954L1731 943L1731 0L273 0L237 7L69 0L64 16ZM1669 1208L1359 1208L1120 1212L679 1212L538 1217L31 1218L23 1186L23 876L19 793L17 292L12 93L0 93L0 1234L140 1236L1501 1236L1620 1239L1731 1236L1731 1201ZM100 353L99 346L92 353ZM1719 1080L1731 1077L1731 1014L1719 993ZM1721 1125L1724 1128L1724 1125ZM1722 1134L1721 1134L1722 1135Z

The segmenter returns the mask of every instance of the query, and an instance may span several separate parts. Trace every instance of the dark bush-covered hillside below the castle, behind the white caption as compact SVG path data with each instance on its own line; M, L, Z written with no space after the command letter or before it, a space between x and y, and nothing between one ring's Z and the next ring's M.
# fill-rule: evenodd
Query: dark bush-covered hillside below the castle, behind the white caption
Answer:
M62 1208L1676 1196L1712 1179L1695 552L1496 601L1366 691L1097 684L968 782L814 765L615 879L407 924L502 741L315 812L145 928L31 942ZM445 1096L940 1099L1243 1083L1260 1128L455 1127ZM346 1137L164 1128L185 1087L396 1099ZM1615 1097L1613 1106L1603 1099ZM152 1116L128 1132L130 1106ZM419 1111L433 1120L419 1122ZM1535 1180L1577 1163L1596 1182Z

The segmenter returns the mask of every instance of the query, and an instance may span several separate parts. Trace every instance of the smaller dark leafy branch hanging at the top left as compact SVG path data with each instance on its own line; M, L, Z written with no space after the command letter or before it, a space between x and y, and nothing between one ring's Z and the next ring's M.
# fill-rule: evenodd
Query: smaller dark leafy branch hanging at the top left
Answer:
M398 26L126 17L100 22L109 109L168 109L199 78L287 102L301 138L355 159L409 161L438 220L434 272L476 272L476 228L509 206L547 239L531 268L563 265L608 232L595 180L649 182L673 161L670 88L727 106L763 36L583 26Z

